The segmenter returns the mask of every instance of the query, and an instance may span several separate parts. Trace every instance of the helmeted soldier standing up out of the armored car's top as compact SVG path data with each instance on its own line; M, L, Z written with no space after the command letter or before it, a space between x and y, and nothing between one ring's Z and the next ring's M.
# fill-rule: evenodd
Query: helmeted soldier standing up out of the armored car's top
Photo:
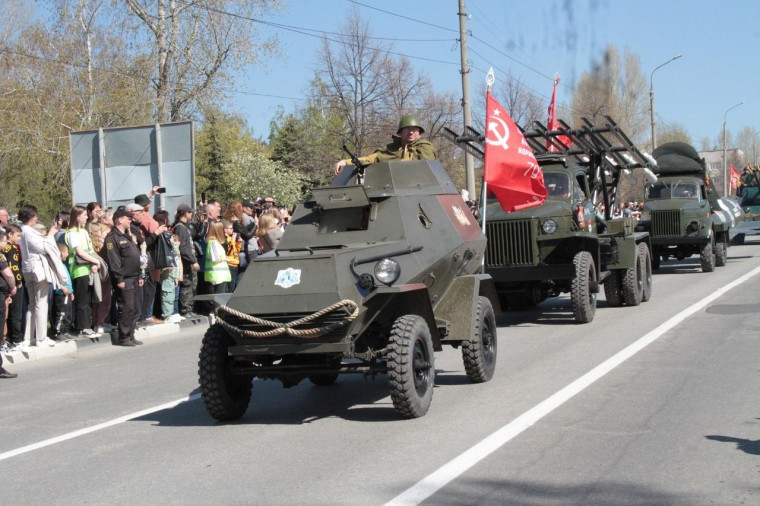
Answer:
M425 139L420 138L425 133L422 123L414 114L407 114L398 123L398 130L392 136L393 141L378 149L371 155L360 156L359 161L364 164L375 162L390 162L393 160L433 160L437 157L435 147ZM340 174L351 159L340 160L335 164L335 174Z

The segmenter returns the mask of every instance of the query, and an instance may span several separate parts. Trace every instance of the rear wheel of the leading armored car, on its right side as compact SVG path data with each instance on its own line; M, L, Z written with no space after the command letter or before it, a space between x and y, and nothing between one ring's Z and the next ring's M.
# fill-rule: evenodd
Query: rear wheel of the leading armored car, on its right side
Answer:
M469 341L462 343L462 360L467 377L473 383L493 378L496 370L496 317L491 301L478 297L475 308L475 328Z

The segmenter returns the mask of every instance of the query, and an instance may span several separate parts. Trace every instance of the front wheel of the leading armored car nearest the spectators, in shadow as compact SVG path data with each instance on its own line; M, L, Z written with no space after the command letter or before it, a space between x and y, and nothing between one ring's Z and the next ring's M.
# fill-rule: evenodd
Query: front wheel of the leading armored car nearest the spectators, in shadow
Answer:
M220 326L212 325L203 336L198 359L201 397L206 411L217 420L240 418L248 409L253 382L251 378L231 374L227 349L232 337Z

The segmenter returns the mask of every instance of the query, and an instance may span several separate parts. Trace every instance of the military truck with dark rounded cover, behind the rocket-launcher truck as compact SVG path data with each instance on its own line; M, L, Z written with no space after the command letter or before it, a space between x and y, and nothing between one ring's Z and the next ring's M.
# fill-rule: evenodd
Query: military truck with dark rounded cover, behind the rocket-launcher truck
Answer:
M657 181L644 192L644 211L637 230L652 242L652 268L673 257L699 255L703 272L726 265L730 213L707 176L705 161L684 142L668 142L652 153Z

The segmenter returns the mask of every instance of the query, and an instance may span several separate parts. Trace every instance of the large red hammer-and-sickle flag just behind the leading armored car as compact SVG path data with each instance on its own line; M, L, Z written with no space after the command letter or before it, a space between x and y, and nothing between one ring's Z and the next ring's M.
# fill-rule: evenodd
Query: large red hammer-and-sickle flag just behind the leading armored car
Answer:
M528 142L507 111L488 91L483 179L506 212L541 205L544 174Z

